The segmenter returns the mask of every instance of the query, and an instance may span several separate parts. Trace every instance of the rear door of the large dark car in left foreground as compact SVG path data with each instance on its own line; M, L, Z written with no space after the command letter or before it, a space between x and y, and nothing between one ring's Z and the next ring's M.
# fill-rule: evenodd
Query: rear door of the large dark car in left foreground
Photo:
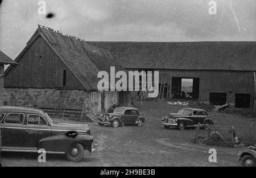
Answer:
M8 113L3 117L0 123L3 150L22 149L24 118L22 113Z

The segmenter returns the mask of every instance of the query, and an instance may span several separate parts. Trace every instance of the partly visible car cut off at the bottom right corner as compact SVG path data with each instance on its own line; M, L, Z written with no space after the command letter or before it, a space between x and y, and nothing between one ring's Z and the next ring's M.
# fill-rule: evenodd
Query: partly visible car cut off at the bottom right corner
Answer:
M242 152L238 160L241 161L243 167L256 167L256 146L250 146Z

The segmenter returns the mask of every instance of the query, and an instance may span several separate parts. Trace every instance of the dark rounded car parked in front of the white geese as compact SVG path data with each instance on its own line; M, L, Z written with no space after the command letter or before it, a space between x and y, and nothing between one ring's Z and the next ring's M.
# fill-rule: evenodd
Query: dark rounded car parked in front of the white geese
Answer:
M177 113L170 113L168 117L162 118L162 124L166 129L174 126L184 130L186 127L195 127L198 123L213 125L213 121L207 111L202 109L184 108Z

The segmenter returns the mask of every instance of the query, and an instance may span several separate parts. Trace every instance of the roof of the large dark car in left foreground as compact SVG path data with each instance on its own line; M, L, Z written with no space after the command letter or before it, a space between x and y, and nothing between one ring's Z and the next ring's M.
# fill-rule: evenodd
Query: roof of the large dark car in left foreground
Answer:
M0 113L2 112L44 114L44 111L40 109L34 109L31 107L18 107L18 106L0 106Z

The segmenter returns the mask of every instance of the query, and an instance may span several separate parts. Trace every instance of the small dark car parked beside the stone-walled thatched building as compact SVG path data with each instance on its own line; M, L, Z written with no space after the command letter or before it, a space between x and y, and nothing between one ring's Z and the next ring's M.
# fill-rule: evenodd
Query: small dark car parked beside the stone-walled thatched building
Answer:
M134 107L116 107L113 113L106 115L101 114L98 118L98 125L112 125L118 127L119 125L137 125L142 126L145 118L139 115L138 109Z

